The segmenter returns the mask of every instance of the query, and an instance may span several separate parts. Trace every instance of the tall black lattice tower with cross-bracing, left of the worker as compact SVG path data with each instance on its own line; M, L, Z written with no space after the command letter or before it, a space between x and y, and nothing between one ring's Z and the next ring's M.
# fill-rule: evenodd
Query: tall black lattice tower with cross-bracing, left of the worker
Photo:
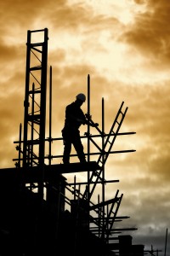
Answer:
M38 34L38 37L37 37ZM39 42L37 42L37 38ZM40 41L41 40L41 41ZM24 140L20 152L24 168L39 166L39 194L43 195L43 166L45 155L46 91L48 67L48 28L28 31L26 43L26 91L24 114ZM21 137L21 128L20 128ZM23 149L21 149L21 147ZM23 176L23 185L25 185Z

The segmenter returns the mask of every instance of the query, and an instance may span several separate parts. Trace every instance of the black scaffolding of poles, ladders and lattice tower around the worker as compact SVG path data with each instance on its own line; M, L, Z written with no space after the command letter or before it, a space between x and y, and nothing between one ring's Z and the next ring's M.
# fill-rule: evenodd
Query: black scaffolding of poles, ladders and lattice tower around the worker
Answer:
M39 34L42 34L42 41L39 42ZM32 41L32 37L37 41ZM96 134L91 134L90 124L94 124L90 109L90 75L88 74L88 118L87 132L82 139L87 140L87 163L52 164L56 158L63 155L52 154L54 143L62 141L62 137L52 137L52 67L49 69L49 131L45 137L46 126L46 97L47 97L47 69L48 69L48 29L27 32L26 51L26 94L25 94L25 116L24 135L22 139L22 125L20 124L19 141L17 144L18 158L14 159L15 166L21 173L23 188L36 191L41 200L50 201L57 195L57 227L59 230L59 212L65 211L69 206L72 215L76 219L76 225L85 226L90 233L97 236L105 245L111 246L111 240L116 234L123 230L136 230L135 228L116 229L114 224L122 221L127 216L118 216L117 212L122 202L119 190L109 200L105 199L105 188L108 183L117 183L119 180L107 180L105 178L105 164L110 154L133 153L135 149L114 150L116 138L125 135L133 135L135 132L121 132L123 120L127 113L127 107L122 102L113 119L111 130L105 132L105 100L102 98L102 127L95 127ZM48 143L48 154L45 145ZM95 148L95 151L91 148ZM91 160L92 156L96 160ZM71 154L77 157L77 154ZM45 160L48 160L48 165ZM77 182L75 173L85 172L87 179L84 182ZM59 175L72 173L74 181L68 183L64 178L64 187L59 182ZM96 188L100 186L100 195L95 196ZM67 191L69 196L67 196ZM50 194L51 193L51 194ZM46 195L46 198L44 197ZM95 196L95 203L92 200ZM97 201L97 202L96 202ZM76 233L77 236L77 233ZM75 236L75 237L76 237ZM57 236L59 237L59 236ZM77 239L75 238L75 255L77 250ZM106 254L105 254L106 255Z

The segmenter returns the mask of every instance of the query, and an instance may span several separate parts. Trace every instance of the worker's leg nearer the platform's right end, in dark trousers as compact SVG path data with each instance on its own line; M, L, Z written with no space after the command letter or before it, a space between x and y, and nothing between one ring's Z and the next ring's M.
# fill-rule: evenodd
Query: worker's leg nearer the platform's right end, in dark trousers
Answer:
M76 133L74 137L72 137L72 144L77 151L78 158L80 162L86 162L85 154L83 151L82 141L79 133Z

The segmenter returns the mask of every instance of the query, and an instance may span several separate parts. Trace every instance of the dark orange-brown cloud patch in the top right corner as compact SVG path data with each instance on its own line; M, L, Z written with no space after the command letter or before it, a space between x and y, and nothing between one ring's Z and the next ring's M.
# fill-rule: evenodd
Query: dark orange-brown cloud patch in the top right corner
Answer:
M165 65L170 57L170 3L167 0L147 1L144 13L135 17L135 23L127 27L121 40L135 47L143 55L156 59L157 65ZM165 61L165 63L162 63Z

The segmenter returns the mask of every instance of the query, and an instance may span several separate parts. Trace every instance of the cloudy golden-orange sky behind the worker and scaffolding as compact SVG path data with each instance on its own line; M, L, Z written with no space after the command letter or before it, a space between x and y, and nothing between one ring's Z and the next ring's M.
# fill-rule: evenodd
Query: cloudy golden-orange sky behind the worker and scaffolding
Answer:
M110 154L105 177L119 183L108 184L105 197L111 199L120 190L120 215L130 216L122 224L138 228L128 231L133 244L144 244L145 250L152 245L161 250L159 255L164 255L170 229L169 13L168 0L0 2L0 168L14 167L14 141L24 121L27 31L47 27L52 137L61 136L65 106L79 92L87 95L88 74L90 111L100 129L102 99L105 132L124 102L128 109L121 131L136 133L118 137L113 149L136 151ZM87 102L82 110L87 113ZM53 150L62 153L62 143L53 143Z

